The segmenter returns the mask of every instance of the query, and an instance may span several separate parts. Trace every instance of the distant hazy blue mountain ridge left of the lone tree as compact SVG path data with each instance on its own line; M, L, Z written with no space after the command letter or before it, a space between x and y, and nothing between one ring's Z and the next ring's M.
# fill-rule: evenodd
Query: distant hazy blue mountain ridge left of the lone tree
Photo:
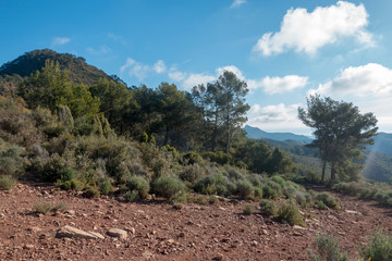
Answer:
M305 144L311 142L311 138L304 135L296 135L292 133L267 133L259 129L258 127L252 127L249 125L246 125L244 129L247 133L246 136L253 139L274 139L279 141L295 140Z

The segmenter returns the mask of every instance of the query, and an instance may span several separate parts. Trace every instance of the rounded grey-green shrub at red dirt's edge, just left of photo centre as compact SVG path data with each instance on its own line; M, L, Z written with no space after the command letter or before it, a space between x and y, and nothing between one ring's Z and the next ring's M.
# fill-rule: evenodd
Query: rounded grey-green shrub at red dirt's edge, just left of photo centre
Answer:
M163 198L170 199L176 194L184 192L185 185L175 177L161 176L154 182L154 190Z

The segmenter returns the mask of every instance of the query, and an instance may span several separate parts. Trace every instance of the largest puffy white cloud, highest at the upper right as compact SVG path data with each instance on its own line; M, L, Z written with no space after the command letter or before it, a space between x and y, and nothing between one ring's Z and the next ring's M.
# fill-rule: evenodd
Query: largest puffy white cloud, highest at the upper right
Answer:
M331 7L318 7L310 13L306 9L291 9L283 17L280 32L264 34L254 51L271 55L294 49L314 54L342 37L354 37L366 46L372 46L372 37L365 30L367 24L364 4L338 1Z

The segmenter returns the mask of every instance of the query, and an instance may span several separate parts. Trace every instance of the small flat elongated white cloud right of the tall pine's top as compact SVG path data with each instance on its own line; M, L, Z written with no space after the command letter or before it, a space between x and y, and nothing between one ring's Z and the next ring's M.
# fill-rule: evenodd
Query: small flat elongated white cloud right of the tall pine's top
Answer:
M283 94L303 88L308 83L308 77L286 75L284 77L265 77L262 79L248 79L249 89L264 88L269 95Z

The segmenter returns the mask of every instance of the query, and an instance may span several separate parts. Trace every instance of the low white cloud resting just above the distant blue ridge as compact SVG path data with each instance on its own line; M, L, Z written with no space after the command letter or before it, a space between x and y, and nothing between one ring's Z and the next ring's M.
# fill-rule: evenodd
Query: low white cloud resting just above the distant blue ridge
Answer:
M285 105L280 103L261 108L259 104L254 104L248 112L249 120L247 124L270 132L291 128L301 129L304 133L304 125L297 117L298 107L299 104Z

